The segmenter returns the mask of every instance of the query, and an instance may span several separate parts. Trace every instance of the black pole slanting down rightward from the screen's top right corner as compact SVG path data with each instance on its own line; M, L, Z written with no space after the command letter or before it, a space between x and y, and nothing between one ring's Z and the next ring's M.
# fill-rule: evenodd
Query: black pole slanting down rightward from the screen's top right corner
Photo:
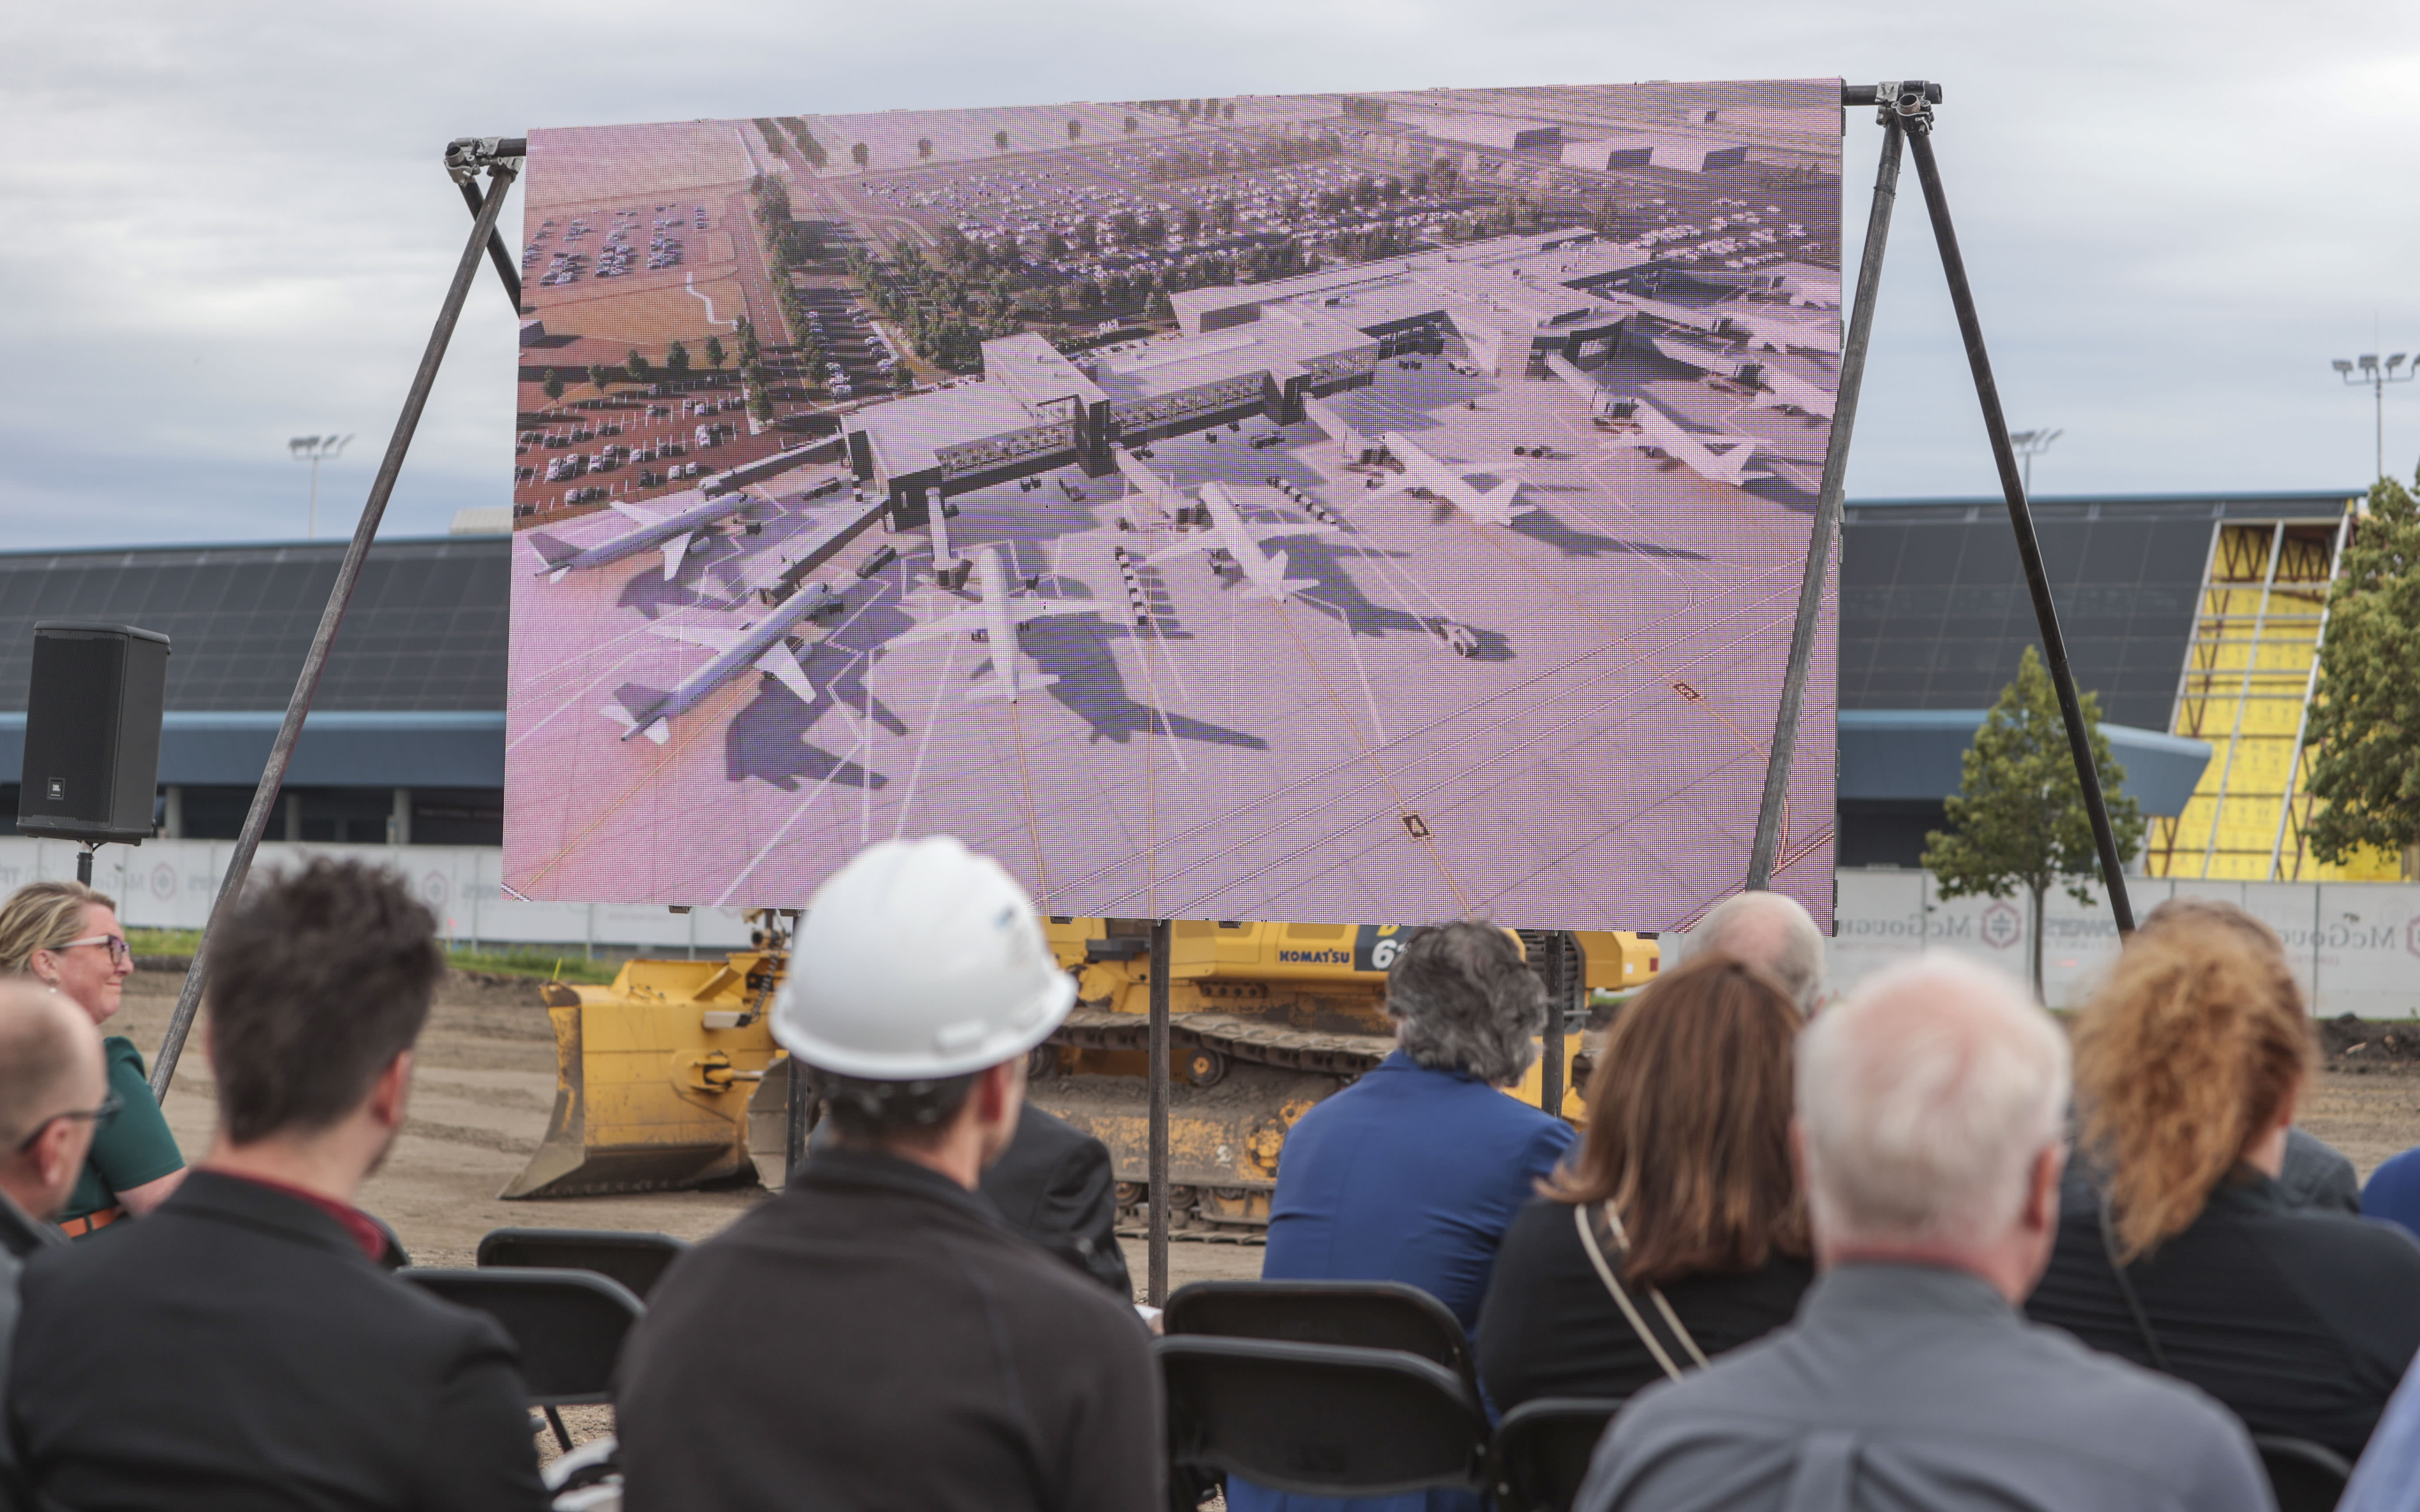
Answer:
M1951 201L1941 191L1941 165L1934 162L1934 111L1921 94L1900 94L1892 109L1900 111L1909 152L1917 160L1917 181L1924 186L1924 208L1934 220L1941 271L1948 276L1951 305L1958 310L1958 334L1965 339L1967 368L1975 370L1982 426L1992 438L1992 462L1999 464L1999 489L2009 498L2009 527L2016 532L2016 554L2026 564L2026 588L2033 590L2033 617L2042 631L2042 656L2050 663L2050 680L2059 689L2059 716L2067 721L2067 748L2076 760L2084 810L2093 820L2093 844L2101 852L2101 885L2108 888L2118 934L2134 934L2134 905L2125 893L2125 856L2118 854L2118 832L2110 827L2108 801L2101 796L2091 726L2084 723L2076 675L2067 665L2067 639L2059 634L2059 607L2050 598L2042 542L2033 532L2033 508L2026 503L2026 481L2016 469L2016 448L2009 445L2009 421L1999 411L1999 385L1992 380L1992 358L1982 348L1982 319L1975 314L1975 290L1967 285L1965 256L1958 252L1958 230L1951 225Z

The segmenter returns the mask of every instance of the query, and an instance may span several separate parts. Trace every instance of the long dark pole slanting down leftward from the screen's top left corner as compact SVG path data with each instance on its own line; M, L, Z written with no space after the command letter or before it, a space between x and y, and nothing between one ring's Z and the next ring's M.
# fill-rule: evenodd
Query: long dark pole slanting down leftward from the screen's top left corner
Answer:
M310 714L310 702L319 692L327 651L336 641L336 627L344 624L346 605L353 600L361 564L370 554L370 537L378 535L378 523L387 513L387 496L394 494L394 479L404 469L404 452L411 450L411 433L421 423L421 409L428 406L428 389L438 382L438 368L445 363L445 344L453 341L455 322L462 319L462 300L469 298L469 283L479 273L479 256L496 230L503 196L520 174L520 157L489 155L479 145L465 148L457 143L448 148L445 167L455 181L469 181L482 167L486 169L486 194L479 201L479 218L472 223L469 244L462 247L462 259L455 264L453 285L448 285L445 305L438 310L438 324L428 334L428 348L421 353L421 368L411 375L411 389L404 394L404 414L394 421L394 435L387 440L387 455L378 464L370 498L361 506L353 542L344 549L336 585L329 588L327 607L319 612L319 629L312 631L310 653L302 658L302 675L295 677L293 699L286 702L286 721L269 748L269 767L261 769L261 786L252 791L252 810L244 815L242 835L235 837L235 854L227 859L227 876L218 883L218 900L211 902L211 927L203 931L201 943L194 946L194 963L184 973L177 1011L169 1016L160 1055L152 1060L150 1084L155 1098L167 1098L169 1081L177 1077L177 1057L184 1055L184 1040L194 1031L194 1011L201 1006L211 934L218 931L218 922L227 917L227 907L242 895L244 878L252 873L252 854L269 830L271 810L278 808L278 789L286 786L286 764L293 760L295 740L302 735L302 716Z

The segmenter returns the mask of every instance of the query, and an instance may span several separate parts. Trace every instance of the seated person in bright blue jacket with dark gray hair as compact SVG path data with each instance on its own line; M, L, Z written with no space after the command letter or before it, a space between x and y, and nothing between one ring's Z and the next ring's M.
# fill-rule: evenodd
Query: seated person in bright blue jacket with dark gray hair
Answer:
M1285 1135L1263 1280L1411 1282L1464 1331L1512 1217L1573 1144L1561 1118L1508 1098L1537 1060L1546 989L1503 929L1464 919L1411 936L1387 973L1401 1050ZM1234 1512L1324 1507L1241 1481ZM1476 1507L1428 1493L1355 1507Z

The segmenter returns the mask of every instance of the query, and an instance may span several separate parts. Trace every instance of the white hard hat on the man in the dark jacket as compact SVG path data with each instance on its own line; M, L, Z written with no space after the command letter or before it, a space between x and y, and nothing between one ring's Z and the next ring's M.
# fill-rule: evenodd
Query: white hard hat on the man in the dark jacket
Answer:
M772 1038L837 1077L927 1081L1024 1055L1072 1004L999 861L946 835L886 839L808 902Z

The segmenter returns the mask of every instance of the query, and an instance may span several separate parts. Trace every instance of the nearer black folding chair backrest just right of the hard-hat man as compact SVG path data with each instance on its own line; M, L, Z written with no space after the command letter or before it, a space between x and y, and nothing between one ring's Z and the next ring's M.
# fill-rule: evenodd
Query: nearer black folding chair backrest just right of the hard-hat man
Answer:
M1486 1483L1488 1420L1454 1372L1401 1350L1159 1340L1169 1464L1270 1490L1394 1495Z

